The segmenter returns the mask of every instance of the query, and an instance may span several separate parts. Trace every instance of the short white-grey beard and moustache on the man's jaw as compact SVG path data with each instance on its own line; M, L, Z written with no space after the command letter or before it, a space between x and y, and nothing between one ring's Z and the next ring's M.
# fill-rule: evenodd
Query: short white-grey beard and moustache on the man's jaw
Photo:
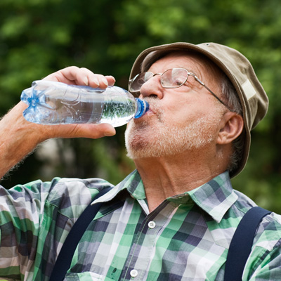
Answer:
M131 159L176 155L214 141L221 112L205 115L180 127L164 121L164 111L155 100L149 100L149 103L153 104L157 122L131 121L125 132L127 156Z

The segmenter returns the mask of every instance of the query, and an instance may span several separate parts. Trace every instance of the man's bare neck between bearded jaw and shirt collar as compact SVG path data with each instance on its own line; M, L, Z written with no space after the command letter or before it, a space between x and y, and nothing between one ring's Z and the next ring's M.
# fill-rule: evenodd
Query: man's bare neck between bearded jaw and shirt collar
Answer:
M200 153L135 159L150 211L167 197L197 188L226 170L216 155L209 157L211 161L207 161L206 156L201 150Z

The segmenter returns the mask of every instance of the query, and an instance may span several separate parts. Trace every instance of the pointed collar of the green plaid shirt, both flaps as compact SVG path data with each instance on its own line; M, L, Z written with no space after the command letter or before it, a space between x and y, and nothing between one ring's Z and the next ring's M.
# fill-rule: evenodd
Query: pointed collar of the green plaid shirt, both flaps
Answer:
M119 192L126 189L131 197L137 200L145 199L145 189L140 174L135 170L124 180L112 188L105 195L93 201L92 204L97 202L107 202L112 200ZM192 202L197 204L201 209L207 212L216 222L220 222L226 211L236 202L237 195L233 191L230 183L230 176L228 171L224 172L213 178L208 183L204 183L194 190L185 192L182 195L169 197L167 200L185 204L185 202Z

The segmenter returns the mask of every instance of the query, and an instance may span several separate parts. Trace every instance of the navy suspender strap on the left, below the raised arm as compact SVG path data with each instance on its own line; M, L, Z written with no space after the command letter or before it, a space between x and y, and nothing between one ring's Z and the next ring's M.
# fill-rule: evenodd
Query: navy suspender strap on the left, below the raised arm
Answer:
M111 189L105 188L101 190L98 195L94 198L96 200L98 197L104 195ZM93 218L98 213L103 202L96 204L89 204L88 207L83 211L83 213L79 216L77 221L72 226L70 233L67 235L65 242L63 243L63 247L58 254L58 259L55 261L55 266L53 267L53 271L50 277L50 281L61 281L65 277L65 273L70 268L70 263L72 261L72 257L74 255L74 251L77 248L77 244L81 240L86 228L88 228Z

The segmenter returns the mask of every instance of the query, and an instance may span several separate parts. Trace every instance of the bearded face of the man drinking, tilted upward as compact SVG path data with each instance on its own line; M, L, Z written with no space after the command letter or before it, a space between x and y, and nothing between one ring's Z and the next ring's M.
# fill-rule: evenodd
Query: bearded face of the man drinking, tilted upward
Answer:
M208 71L202 59L183 53L166 55L148 71L163 73L174 67L193 72L220 96L216 73ZM164 157L215 145L218 124L226 108L191 76L176 89L164 89L160 79L160 75L156 75L141 88L140 97L148 100L150 110L127 126L128 156L132 159Z

